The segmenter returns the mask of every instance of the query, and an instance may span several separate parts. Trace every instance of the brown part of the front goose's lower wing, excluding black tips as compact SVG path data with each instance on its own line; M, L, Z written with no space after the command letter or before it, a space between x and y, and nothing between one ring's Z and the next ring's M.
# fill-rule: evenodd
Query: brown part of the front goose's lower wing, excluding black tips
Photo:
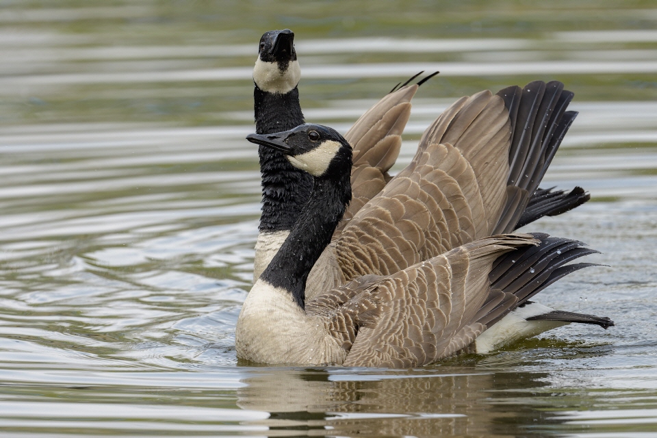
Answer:
M316 307L333 312L315 311L329 318L329 332L348 351L346 366L433 363L485 330L477 319L490 295L493 261L535 242L531 235L478 240L384 279L349 283L315 300L330 302Z

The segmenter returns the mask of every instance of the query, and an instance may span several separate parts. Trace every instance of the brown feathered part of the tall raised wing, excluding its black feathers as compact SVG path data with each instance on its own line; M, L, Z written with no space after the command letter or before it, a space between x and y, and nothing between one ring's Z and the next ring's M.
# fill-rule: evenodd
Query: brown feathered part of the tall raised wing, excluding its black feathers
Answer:
M510 135L500 97L481 92L452 105L335 242L344 278L393 274L489 235L506 201Z

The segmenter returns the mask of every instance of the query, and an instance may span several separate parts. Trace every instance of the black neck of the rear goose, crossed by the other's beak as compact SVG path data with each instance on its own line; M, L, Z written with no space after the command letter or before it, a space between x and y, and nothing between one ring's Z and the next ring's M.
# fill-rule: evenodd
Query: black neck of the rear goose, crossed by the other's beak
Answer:
M304 123L299 90L285 94L270 93L255 86L255 129L259 134L288 131ZM278 152L260 146L262 176L262 216L260 231L292 229L313 188L313 178L289 164Z

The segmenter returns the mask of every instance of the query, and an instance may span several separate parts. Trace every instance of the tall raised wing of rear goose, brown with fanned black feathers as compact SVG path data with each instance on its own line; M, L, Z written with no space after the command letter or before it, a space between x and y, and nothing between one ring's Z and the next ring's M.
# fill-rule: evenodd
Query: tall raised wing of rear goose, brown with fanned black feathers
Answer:
M522 214L577 116L566 111L572 97L561 82L534 81L456 101L424 131L411 164L324 250L306 296L366 274L394 274L543 216ZM554 208L545 192L530 214Z

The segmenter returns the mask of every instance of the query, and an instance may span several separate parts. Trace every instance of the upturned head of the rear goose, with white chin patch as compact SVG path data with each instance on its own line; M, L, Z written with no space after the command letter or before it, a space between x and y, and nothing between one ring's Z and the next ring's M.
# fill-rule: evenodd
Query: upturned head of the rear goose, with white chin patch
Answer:
M300 77L294 32L289 29L265 32L253 68L255 85L265 92L285 94L296 88Z

